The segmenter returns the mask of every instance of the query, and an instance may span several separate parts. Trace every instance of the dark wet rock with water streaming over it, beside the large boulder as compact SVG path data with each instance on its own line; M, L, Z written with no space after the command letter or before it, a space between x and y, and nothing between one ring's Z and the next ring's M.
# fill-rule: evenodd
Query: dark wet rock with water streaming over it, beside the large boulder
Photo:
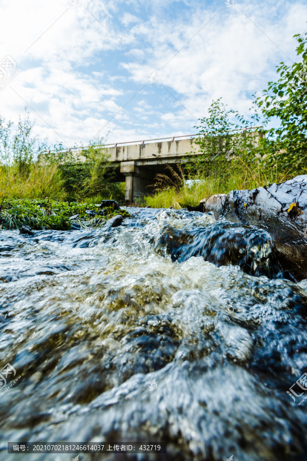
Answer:
M271 236L264 229L242 224L217 222L206 227L168 229L156 244L172 261L187 261L202 256L217 266L237 265L250 275L281 275L281 266L274 255ZM293 278L288 271L284 278Z

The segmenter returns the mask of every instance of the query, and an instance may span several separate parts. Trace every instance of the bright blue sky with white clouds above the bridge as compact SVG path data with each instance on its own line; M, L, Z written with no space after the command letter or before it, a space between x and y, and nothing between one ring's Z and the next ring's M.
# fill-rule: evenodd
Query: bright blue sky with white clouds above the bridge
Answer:
M248 116L296 60L307 5L225 2L2 0L1 114L27 105L35 133L64 146L192 134L218 97Z

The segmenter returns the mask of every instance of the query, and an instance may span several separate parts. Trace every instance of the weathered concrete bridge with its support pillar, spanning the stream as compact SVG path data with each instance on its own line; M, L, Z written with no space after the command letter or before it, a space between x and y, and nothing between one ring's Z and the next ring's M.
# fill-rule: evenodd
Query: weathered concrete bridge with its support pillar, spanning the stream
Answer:
M260 127L247 130L256 128ZM101 150L108 161L112 162L116 171L116 180L125 181L125 200L131 203L152 192L150 186L155 182L156 174L165 173L166 165L189 161L191 155L200 155L199 145L195 144L195 137L199 136L195 134L104 144ZM76 151L81 156L82 149L86 147Z

